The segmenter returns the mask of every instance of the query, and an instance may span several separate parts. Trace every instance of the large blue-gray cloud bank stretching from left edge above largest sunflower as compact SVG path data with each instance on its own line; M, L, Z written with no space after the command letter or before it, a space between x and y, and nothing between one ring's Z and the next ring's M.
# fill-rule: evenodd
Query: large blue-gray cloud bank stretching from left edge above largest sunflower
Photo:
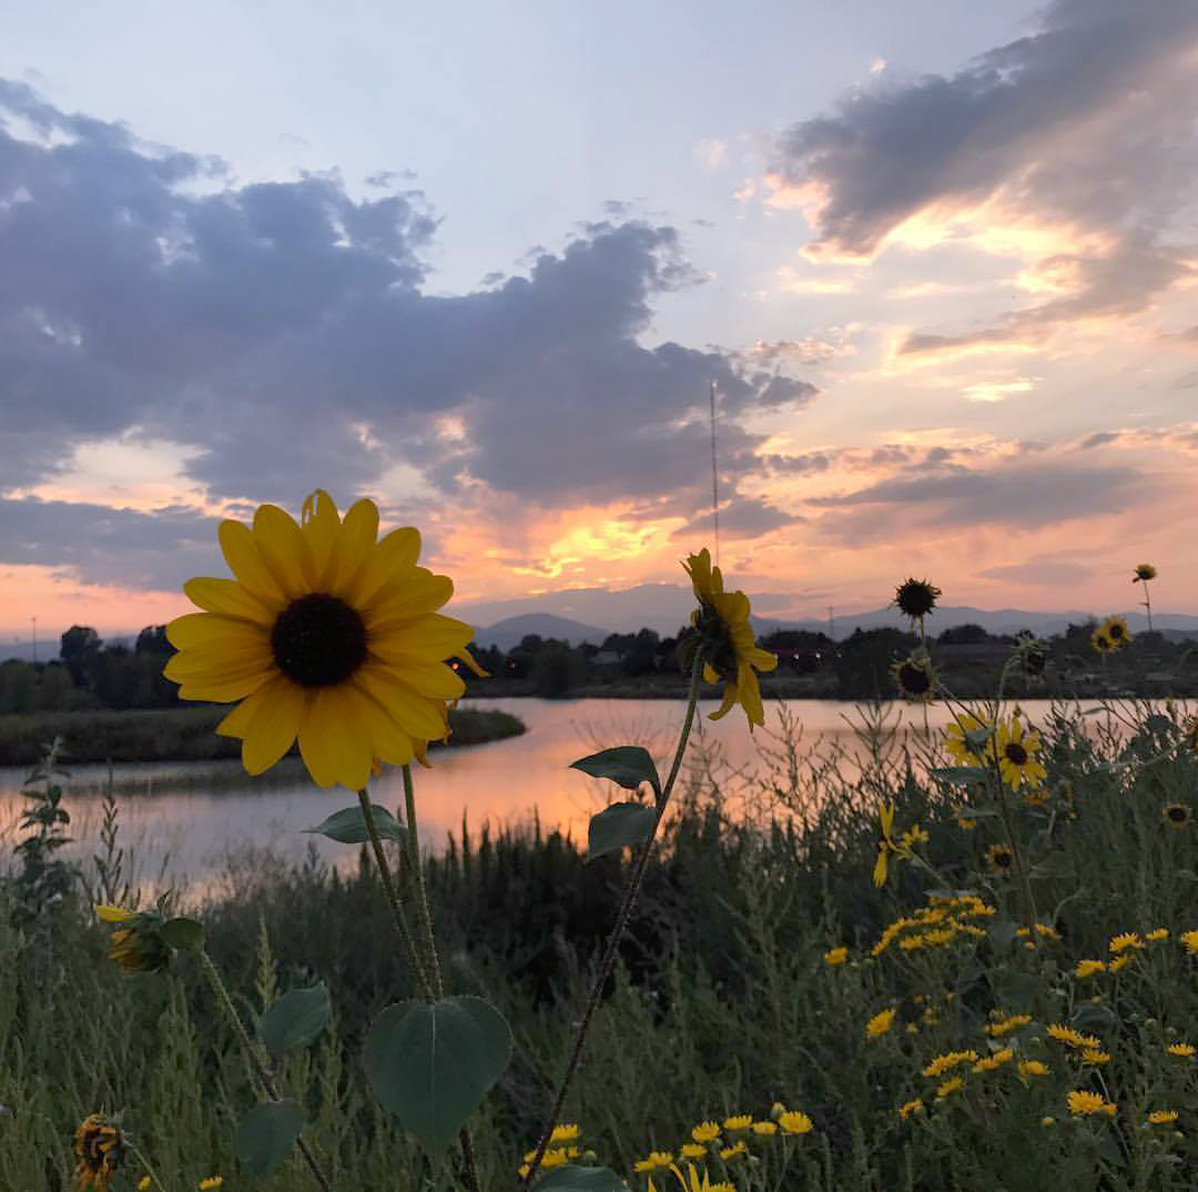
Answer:
M710 380L730 495L760 468L737 420L816 396L732 354L641 345L658 297L700 281L668 227L586 224L522 276L426 294L438 224L418 192L376 193L393 181L364 199L335 174L235 186L0 82L0 492L133 433L193 448L218 499L407 464L447 496L482 480L551 507L685 501Z

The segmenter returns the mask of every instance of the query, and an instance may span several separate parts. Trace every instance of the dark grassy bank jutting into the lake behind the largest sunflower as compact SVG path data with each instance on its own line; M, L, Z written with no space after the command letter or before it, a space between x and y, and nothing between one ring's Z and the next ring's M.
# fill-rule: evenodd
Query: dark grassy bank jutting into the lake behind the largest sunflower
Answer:
M144 711L37 712L0 716L0 765L32 765L55 736L71 761L211 761L237 758L241 742L213 729L224 706ZM507 712L454 710L449 745L479 745L516 736L524 724ZM434 742L434 748L437 748Z

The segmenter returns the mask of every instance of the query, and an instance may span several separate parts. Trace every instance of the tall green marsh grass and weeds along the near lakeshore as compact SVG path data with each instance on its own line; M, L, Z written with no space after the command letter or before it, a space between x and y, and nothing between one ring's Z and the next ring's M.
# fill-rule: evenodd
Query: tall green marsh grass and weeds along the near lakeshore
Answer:
M786 1142L785 1173L782 1140L750 1136L760 1162L713 1156L713 1179L805 1192L1192 1187L1194 1061L1166 1046L1198 1046L1196 961L1178 939L1198 927L1198 829L1168 826L1161 807L1194 809L1198 761L1182 744L1180 710L1129 705L1087 726L1081 712L1061 705L1040 726L1048 795L1017 817L1036 865L1039 919L1060 935L1035 949L1015 934L1011 883L984 860L1000 838L996 820L975 808L963 830L958 812L975 796L926 777L943 761L934 741L895 736L882 709L866 709L852 748L805 744L783 709L761 738L754 775L731 771L701 742L569 1094L565 1120L581 1125L583 1145L643 1190L634 1164L651 1150L677 1155L696 1122L742 1112L760 1120L781 1101L816 1127ZM949 889L994 908L982 938L872 955L887 925L934 889L910 863L884 889L872 885L883 801L897 803L896 829L927 830L924 855ZM486 997L516 1036L512 1067L472 1118L485 1188L515 1187L537 1139L627 869L615 855L587 865L576 842L536 823L464 824L426 860L448 987ZM163 977L122 976L104 962L104 933L86 909L65 902L19 935L0 932L0 1104L11 1109L0 1115L0 1187L72 1187L71 1132L101 1107L123 1110L171 1190L213 1172L230 1192L302 1186L294 1164L260 1184L237 1175L232 1136L253 1101L248 1073L189 962L176 957ZM279 1073L305 1101L305 1137L333 1185L454 1186L377 1109L362 1076L371 1016L413 991L394 949L380 946L387 908L365 859L338 874L315 855L288 866L255 854L195 909L252 1022L277 991L315 980L337 991L333 1028ZM1136 949L1121 973L1073 975L1079 959L1111 961L1119 933L1158 927L1169 939ZM824 955L836 946L848 955L833 967ZM869 1036L865 1023L887 1009L895 1024ZM950 1050L985 1055L996 1011L1031 1022L993 1046L1015 1046L1049 1074L1024 1083L1008 1067L966 1071L964 1089L936 1100L939 1082L921 1070ZM1046 1024L1071 1021L1100 1037L1108 1062L1082 1065L1046 1037ZM1072 1089L1109 1095L1117 1115L1071 1119ZM902 1120L896 1109L913 1098L925 1108ZM1149 1126L1151 1109L1175 1109L1180 1121ZM122 1179L125 1192L133 1180ZM671 1187L672 1176L655 1184Z

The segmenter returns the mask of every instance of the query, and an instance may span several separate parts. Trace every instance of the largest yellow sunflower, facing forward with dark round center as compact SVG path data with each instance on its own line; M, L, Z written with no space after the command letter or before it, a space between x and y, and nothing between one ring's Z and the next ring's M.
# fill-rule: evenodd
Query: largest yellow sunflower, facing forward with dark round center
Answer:
M316 489L302 525L276 505L254 513L253 529L222 522L234 578L183 585L204 612L167 626L180 652L164 673L182 699L241 700L217 732L241 739L249 773L298 736L319 785L361 790L376 763L423 761L426 744L448 735L446 703L465 685L444 660L485 675L466 649L471 627L436 612L453 583L416 565L419 534L377 535L374 501L343 520Z

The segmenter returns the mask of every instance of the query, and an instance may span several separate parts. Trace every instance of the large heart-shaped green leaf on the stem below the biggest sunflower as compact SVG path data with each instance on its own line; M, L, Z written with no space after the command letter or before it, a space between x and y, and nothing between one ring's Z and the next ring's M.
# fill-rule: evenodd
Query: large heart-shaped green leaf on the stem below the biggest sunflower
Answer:
M512 1060L512 1030L482 998L404 1001L374 1021L363 1059L380 1104L438 1160Z

